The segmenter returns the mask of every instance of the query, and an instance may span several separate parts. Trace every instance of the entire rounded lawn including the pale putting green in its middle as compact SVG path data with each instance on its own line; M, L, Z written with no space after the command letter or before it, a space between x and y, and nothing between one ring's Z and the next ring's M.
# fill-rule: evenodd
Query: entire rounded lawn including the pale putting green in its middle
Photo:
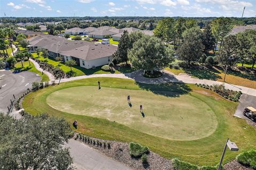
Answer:
M132 107L126 101L128 94ZM227 138L236 142L239 151L227 150L225 163L256 148L255 128L233 116L237 105L193 84L143 84L117 78L65 82L23 100L23 107L33 115L46 112L65 117L70 125L77 120L77 132L138 142L166 158L197 165L216 165Z

